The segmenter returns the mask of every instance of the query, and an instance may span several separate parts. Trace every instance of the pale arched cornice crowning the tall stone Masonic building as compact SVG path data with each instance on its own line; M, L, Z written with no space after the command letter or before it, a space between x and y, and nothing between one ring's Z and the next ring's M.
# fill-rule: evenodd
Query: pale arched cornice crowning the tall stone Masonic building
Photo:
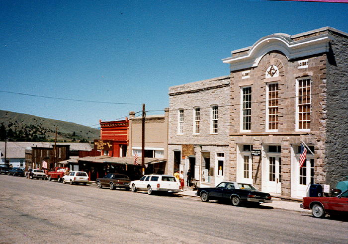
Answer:
M283 53L288 60L328 52L330 40L333 40L330 34L293 41L288 34L276 33L262 37L250 48L232 52L232 57L223 62L230 64L231 71L248 69L257 67L262 57L271 51Z

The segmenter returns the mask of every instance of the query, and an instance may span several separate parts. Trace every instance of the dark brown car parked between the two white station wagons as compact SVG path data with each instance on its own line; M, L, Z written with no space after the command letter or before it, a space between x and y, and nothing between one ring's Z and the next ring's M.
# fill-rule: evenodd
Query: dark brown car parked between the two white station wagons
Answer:
M102 178L97 178L95 180L96 187L102 188L103 186L110 187L110 190L116 188L124 188L129 190L130 179L125 174L118 173L108 173Z

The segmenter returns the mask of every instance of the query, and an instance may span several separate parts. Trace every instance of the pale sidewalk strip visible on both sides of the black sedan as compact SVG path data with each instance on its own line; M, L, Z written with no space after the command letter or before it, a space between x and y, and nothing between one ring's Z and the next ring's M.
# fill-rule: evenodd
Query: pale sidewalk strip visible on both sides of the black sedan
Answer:
M176 193L178 195L182 196L189 196L189 197L198 197L196 196L197 191L193 190L184 190L182 192ZM283 200L277 197L272 196L272 202L271 203L262 203L262 206L269 206L273 207L274 209L284 209L284 210L291 210L291 211L296 211L296 212L307 212L310 213L310 210L304 210L300 208L300 203L298 201L291 201L291 200Z

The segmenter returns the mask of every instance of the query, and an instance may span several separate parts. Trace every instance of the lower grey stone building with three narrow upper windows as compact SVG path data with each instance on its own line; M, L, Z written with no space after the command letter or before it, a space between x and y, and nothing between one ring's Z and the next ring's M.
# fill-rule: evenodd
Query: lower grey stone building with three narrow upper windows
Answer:
M228 173L230 77L169 88L168 173L215 186Z

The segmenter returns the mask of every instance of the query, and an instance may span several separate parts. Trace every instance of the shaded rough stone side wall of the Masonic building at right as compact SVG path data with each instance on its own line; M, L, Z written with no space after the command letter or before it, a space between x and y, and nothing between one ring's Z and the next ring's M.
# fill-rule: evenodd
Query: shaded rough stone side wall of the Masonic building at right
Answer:
M348 37L332 33L328 54L326 182L331 187L348 176Z

